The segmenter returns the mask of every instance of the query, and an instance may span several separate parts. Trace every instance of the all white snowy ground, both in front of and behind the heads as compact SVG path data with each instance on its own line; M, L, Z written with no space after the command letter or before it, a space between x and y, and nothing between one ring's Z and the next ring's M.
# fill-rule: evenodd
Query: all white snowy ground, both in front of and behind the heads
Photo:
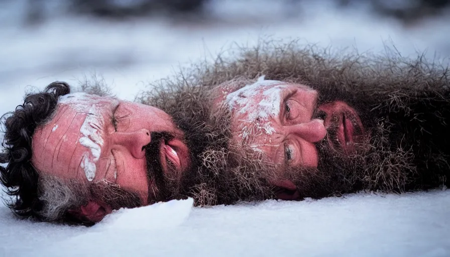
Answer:
M19 27L17 6L2 9L0 113L14 110L32 87L76 84L91 74L133 100L147 81L268 37L361 52L383 52L387 43L403 55L450 56L448 19L406 29L323 2L296 14L261 3L216 1L211 12L222 22L113 23L55 15L28 29ZM122 210L90 228L17 220L2 206L0 256L450 256L448 217L449 190L213 208L170 202Z

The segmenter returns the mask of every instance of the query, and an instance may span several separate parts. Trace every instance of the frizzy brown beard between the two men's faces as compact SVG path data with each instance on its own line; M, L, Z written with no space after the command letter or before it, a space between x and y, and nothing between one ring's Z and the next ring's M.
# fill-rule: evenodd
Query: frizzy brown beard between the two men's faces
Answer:
M181 186L172 190L177 194L171 198L192 197L196 206L274 198L266 178L275 170L265 168L253 151L231 145L230 113L211 118L209 107L197 105L201 111L180 113L175 109L172 113L185 133L192 166L183 173Z

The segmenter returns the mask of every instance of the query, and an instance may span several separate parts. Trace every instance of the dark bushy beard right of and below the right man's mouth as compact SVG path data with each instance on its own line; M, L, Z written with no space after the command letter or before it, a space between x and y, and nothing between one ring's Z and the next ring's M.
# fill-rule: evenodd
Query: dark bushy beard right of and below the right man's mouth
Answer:
M359 190L403 192L448 185L450 166L445 161L448 136L442 118L443 113L449 114L448 101L433 90L359 97L339 87L332 89L333 94L326 93L327 90L330 88L319 92L323 97L318 104L351 103L366 132L355 132L359 138L352 146L354 151L349 153L340 143L338 122L331 123L325 139L316 144L318 167L291 167L286 171L286 178L296 185L300 198ZM399 101L400 95L408 102Z

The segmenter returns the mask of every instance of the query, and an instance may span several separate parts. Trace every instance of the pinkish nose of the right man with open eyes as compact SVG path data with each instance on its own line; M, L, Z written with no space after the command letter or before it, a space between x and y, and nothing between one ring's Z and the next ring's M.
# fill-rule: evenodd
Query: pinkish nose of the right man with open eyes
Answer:
M289 133L296 134L310 143L315 143L325 137L326 130L322 119L312 119L309 122L291 125Z

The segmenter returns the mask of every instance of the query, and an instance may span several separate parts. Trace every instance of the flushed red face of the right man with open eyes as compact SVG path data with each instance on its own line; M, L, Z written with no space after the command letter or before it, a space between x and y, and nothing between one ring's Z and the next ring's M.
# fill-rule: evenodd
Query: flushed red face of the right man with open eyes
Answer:
M281 177L296 167L309 172L320 168L319 146L327 153L351 155L363 139L364 129L353 108L338 101L318 104L317 91L302 84L259 80L227 92L223 100L231 111L232 140L263 153L279 167ZM285 179L270 182L296 188Z

